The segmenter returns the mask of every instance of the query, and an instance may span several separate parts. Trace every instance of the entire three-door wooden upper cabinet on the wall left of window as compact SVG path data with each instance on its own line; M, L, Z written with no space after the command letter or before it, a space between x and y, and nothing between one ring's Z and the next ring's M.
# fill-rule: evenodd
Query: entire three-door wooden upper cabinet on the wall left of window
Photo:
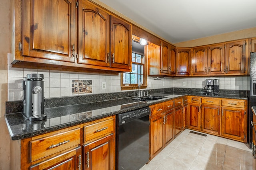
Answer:
M127 21L89 0L15 1L13 66L130 71L132 25Z

